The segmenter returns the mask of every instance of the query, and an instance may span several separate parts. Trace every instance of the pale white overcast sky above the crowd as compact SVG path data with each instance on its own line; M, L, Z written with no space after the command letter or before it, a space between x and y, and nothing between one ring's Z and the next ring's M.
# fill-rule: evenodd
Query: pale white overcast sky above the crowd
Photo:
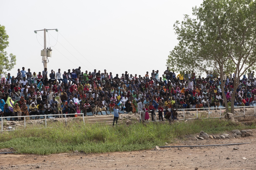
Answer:
M57 28L59 34L54 30L49 31L49 37L46 34L50 46L56 44L54 38L58 36L47 64L48 74L51 69L57 72L60 68L63 73L80 66L82 72L106 69L119 77L125 71L144 76L146 71L159 70L162 75L169 51L178 43L174 22L183 20L183 14L191 16L192 7L201 3L202 0L2 1L0 24L9 35L6 51L17 57L16 66L9 73L16 76L22 67L26 71L30 68L32 73L42 72L40 50L44 41L40 36L44 32L39 31L36 38L34 30Z

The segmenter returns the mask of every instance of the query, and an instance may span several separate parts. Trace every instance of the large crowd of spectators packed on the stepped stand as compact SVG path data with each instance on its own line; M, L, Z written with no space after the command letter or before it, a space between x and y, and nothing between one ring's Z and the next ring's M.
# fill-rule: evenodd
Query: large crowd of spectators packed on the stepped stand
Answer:
M225 75L225 96L222 96L220 78L212 73L196 76L194 71L180 71L177 74L169 68L162 75L158 70L145 75L128 74L119 76L112 72L81 72L81 67L61 72L47 68L42 72L18 69L17 75L3 76L0 87L0 116L22 116L48 114L83 113L97 115L102 111L140 112L142 121L154 121L158 110L159 121L177 119L177 109L208 108L218 109L223 105L223 97L234 104L249 106L255 104L256 78L254 72L240 80L233 90L235 75ZM151 113L151 118L149 117ZM16 118L16 120L21 120ZM117 120L116 120L117 121Z

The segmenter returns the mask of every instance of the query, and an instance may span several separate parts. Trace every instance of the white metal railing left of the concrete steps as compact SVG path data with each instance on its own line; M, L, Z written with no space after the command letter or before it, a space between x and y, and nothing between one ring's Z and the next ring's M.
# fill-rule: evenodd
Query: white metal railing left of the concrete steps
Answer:
M24 117L24 128L26 128L26 117L37 117L37 116L41 117L41 116L43 116L44 119L45 119L45 127L47 127L47 121L46 121L47 116L65 116L65 122L66 122L66 125L67 125L67 116L68 115L81 115L81 114L83 115L83 113L70 113L70 114L48 114L48 115L29 115L29 116L6 116L6 117L0 117L1 118L1 132L4 131L3 130L3 119L5 119L5 118L12 119L12 118ZM83 124L85 124L85 122L84 122L84 115L83 115Z

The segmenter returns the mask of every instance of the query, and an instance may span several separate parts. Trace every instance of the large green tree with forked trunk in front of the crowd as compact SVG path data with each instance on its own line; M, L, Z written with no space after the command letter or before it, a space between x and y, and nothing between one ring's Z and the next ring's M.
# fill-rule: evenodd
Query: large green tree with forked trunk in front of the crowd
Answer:
M204 0L192 10L195 18L184 15L184 21L174 24L179 43L170 51L166 65L174 70L193 69L220 75L222 96L229 112L224 94L225 74L234 71L235 92L240 77L254 68L256 62L256 4L253 0ZM231 113L234 96L232 93Z

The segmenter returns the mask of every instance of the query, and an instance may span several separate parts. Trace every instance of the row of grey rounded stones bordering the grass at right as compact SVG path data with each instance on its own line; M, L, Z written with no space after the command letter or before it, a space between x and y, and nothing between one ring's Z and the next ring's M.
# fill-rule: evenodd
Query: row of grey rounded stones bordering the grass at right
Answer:
M232 130L232 134L225 134L215 136L215 135L208 135L204 131L201 131L199 135L192 138L192 140L204 140L204 139L231 139L231 138L240 138L240 137L247 137L252 136L253 132L251 130Z

